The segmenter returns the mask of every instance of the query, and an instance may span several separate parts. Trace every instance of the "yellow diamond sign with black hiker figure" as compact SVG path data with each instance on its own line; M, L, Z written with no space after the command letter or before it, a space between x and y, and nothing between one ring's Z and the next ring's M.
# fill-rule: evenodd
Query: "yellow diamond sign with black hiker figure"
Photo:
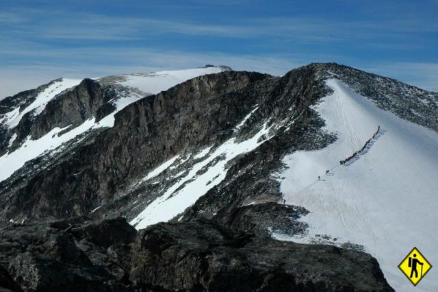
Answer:
M417 247L414 247L411 252L402 260L398 268L407 276L409 281L416 286L426 273L432 268L432 265L426 260Z

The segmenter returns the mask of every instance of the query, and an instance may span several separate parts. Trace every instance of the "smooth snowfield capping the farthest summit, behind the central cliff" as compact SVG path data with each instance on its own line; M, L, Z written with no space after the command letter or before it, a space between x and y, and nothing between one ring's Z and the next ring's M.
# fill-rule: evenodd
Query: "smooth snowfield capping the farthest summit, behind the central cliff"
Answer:
M124 75L113 75L101 77L97 81L101 84L120 84L131 88L138 88L146 95L153 95L161 91L190 80L201 75L220 73L231 70L227 66L210 66L203 68L175 70L175 71L157 71L151 73L135 73Z

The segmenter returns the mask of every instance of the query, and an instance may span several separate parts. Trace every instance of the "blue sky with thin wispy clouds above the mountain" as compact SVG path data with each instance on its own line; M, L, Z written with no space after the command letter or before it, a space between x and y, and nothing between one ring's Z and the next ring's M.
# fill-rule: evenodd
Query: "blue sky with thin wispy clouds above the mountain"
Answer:
M438 0L0 2L0 98L56 77L339 62L438 91Z

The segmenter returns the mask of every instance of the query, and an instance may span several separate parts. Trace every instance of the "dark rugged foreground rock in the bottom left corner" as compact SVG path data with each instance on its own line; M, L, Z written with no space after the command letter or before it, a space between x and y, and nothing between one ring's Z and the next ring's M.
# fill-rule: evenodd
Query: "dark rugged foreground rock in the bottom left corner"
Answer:
M133 291L136 230L85 217L0 228L0 287L12 291Z

